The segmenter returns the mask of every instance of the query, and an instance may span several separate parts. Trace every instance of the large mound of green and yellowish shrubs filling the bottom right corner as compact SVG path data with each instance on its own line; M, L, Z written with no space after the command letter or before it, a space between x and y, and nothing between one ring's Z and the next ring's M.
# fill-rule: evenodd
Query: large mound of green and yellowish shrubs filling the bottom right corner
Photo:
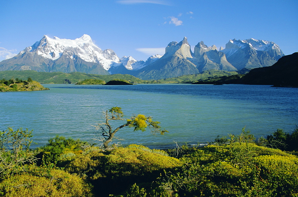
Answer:
M159 188L168 196L297 196L297 157L262 155L268 150L238 142L200 148L182 157Z

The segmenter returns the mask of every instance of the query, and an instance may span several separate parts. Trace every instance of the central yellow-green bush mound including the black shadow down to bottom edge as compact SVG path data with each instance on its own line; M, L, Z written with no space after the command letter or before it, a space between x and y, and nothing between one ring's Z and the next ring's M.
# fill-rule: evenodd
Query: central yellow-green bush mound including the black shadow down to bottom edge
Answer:
M117 147L111 151L92 148L88 153L68 158L64 169L90 180L102 196L119 194L134 183L150 187L164 169L181 165L178 159L164 151L151 150L141 145ZM108 183L108 184L107 184ZM105 185L105 187L101 187ZM143 189L133 193L143 193Z

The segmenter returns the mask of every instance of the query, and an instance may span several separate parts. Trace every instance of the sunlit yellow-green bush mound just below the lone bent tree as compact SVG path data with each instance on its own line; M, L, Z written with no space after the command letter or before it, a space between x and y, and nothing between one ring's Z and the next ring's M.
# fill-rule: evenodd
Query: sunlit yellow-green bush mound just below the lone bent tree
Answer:
M178 159L167 156L165 151L152 150L142 145L118 147L105 152L94 150L88 154L66 158L64 162L66 171L92 180L115 175L142 176L181 165Z

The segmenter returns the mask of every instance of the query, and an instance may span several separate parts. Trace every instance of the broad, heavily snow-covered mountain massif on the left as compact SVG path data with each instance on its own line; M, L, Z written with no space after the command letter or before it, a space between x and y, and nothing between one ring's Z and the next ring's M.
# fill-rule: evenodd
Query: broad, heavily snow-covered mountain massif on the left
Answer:
M13 58L0 62L0 71L35 70L39 72L84 72L109 74L111 66L120 65L111 49L98 48L89 35L75 40L50 38L46 35Z

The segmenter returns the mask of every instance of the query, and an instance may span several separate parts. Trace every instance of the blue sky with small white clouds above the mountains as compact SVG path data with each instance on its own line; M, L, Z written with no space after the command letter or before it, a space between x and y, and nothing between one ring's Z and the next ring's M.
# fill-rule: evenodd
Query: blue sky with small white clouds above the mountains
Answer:
M0 61L43 35L75 39L83 34L121 58L146 60L183 37L193 48L204 41L218 49L230 39L277 43L298 51L297 0L3 0Z

